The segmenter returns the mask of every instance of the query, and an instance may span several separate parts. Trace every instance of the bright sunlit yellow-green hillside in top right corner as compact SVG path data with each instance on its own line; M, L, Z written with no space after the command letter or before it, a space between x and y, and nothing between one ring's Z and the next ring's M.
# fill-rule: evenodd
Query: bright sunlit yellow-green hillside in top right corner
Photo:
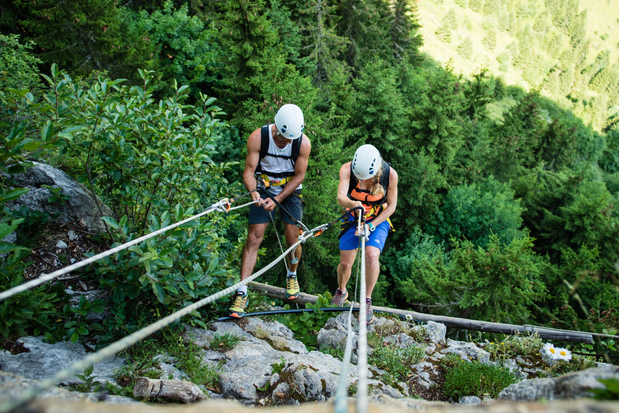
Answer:
M418 2L423 50L465 76L487 67L595 128L619 111L619 1Z

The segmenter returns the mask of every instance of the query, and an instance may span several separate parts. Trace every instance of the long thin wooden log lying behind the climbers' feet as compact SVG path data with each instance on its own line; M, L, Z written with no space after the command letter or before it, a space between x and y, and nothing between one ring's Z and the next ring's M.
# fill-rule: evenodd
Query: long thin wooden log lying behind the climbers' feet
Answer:
M286 298L286 290L280 287L274 287L273 285L262 284L260 282L250 282L249 287L266 295L267 297L279 298L285 302L291 304L305 305L305 303L315 303L318 296L307 293L300 293L299 297L294 300L288 300ZM358 303L355 303L355 307ZM571 341L591 344L593 337L590 333L583 333L581 331L559 331L555 329L543 328L538 326L518 326L516 324L503 324L503 323L490 323L488 321L469 320L466 318L456 318L448 316L430 315L424 313L418 313L417 311L405 311L397 308L387 308L380 306L373 306L374 312L384 311L386 313L392 313L402 316L410 316L419 321L435 321L436 323L442 323L446 326L453 328L461 328L474 331L487 331L488 333L503 333L503 334L532 334L537 333L543 339ZM617 337L619 339L619 337Z

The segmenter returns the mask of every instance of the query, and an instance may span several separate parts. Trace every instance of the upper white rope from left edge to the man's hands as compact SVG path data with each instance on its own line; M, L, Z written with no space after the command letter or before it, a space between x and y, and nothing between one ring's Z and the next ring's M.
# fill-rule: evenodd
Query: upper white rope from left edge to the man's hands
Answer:
M189 217L187 219L183 219L183 220L181 220L179 222L176 222L176 224L168 225L167 227L161 228L161 229L159 229L159 230L157 230L155 232L151 232L151 233L148 233L146 235L142 235L142 237L136 238L135 240L128 241L128 242L126 242L124 244L115 246L114 248L110 248L110 250L103 251L102 253L98 253L96 255L93 255L90 258L82 259L82 261L77 261L77 263L71 264L71 265L66 266L64 268L61 268L61 269L57 269L56 271L51 272L50 274L41 274L41 276L36 278L36 279L24 282L24 284L17 285L15 287L13 287L12 289L8 289L6 291L2 291L2 292L0 292L0 301L6 300L7 298L12 297L15 294L19 294L20 292L24 292L25 290L29 290L29 289L31 289L33 287L37 287L37 285L41 285L41 284L43 284L45 282L53 280L56 277L63 276L64 274L67 274L67 273L69 273L71 271L76 271L76 269L80 269L80 268L85 267L88 264L92 264L95 261L98 261L98 260L100 260L102 258L105 258L105 257L110 256L112 254L118 253L119 251L122 251L125 248L128 248L129 246L136 245L136 244L141 243L142 241L148 240L149 238L156 237L160 233L163 233L163 232L166 232L166 231L171 230L173 228L176 228L176 227L178 227L180 225L185 224L186 222L193 221L194 219L202 217L202 215L209 214L209 212L212 212L212 211L219 211L219 212L232 211L233 209L242 208L242 207L248 206L250 204L254 204L255 202L258 202L258 201L248 202L247 204L243 204L243 205L240 205L240 206L237 206L237 207L230 208L229 210L226 210L224 206L228 203L228 199L222 199L219 202L215 202L215 204L212 204L210 207L208 207L204 211L200 212L199 214L193 215L193 217Z

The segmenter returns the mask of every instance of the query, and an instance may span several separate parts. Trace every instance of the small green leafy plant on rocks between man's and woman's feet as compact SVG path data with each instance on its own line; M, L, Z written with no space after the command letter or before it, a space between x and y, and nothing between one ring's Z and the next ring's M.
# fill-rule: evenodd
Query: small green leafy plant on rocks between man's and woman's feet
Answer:
M295 337L305 344L306 347L314 349L316 347L316 339L318 331L324 326L324 323L335 316L334 313L325 313L320 308L328 307L331 303L331 297L323 297L318 295L316 303L305 303L305 308L311 311L303 311L300 314L280 315L277 321L288 326L295 334ZM286 305L288 306L288 305ZM284 306L284 308L286 308ZM288 306L290 308L290 306Z

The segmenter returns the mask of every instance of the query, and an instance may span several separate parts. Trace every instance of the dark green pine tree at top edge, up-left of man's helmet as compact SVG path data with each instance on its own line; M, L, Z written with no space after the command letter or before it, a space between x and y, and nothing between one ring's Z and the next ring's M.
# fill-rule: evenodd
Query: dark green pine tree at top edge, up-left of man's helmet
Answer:
M264 0L226 0L219 7L225 83L232 93L246 94L252 90L246 79L266 68L264 53L277 43L277 31L267 19Z

